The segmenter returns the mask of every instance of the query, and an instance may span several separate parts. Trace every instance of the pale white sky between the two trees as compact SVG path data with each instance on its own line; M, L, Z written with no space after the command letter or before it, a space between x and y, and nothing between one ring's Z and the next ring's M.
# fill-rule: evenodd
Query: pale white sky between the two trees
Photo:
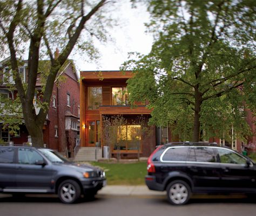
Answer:
M117 71L123 62L128 60L129 52L150 52L153 37L145 33L144 23L149 22L146 7L140 5L133 9L129 0L120 0L117 4L115 16L118 17L120 25L111 30L111 37L115 42L103 45L95 41L101 55L99 65L95 62L86 62L80 55L72 55L71 59L75 60L79 71Z

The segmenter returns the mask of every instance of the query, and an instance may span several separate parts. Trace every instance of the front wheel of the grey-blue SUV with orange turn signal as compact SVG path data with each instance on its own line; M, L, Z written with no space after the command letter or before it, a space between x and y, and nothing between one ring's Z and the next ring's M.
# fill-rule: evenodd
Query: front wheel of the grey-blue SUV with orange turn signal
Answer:
M75 180L64 180L59 185L58 197L63 203L75 203L80 194L80 186Z

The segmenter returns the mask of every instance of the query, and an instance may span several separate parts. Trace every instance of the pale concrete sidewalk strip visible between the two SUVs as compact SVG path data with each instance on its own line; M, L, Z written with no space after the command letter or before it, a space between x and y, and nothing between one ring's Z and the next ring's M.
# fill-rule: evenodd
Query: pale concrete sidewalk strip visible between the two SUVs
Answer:
M146 185L106 185L98 191L100 195L111 196L165 196L165 191L151 191Z

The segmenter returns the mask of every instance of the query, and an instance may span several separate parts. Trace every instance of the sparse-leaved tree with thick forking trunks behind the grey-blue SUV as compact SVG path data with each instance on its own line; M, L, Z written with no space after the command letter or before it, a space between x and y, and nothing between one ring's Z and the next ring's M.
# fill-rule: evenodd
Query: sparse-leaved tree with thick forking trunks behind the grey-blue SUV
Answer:
M65 64L74 48L82 50L89 59L97 58L92 36L106 39L104 17L106 0L37 0L0 1L0 53L6 61L15 81L25 126L33 145L43 146L43 124L48 113L53 85L59 69ZM53 51L58 48L59 55ZM22 82L18 73L28 52L28 81ZM50 59L47 68L40 70L40 60ZM43 73L44 72L44 73ZM39 73L44 76L44 87L38 99L41 107L36 114L33 106L37 94ZM41 75L42 75L41 74Z

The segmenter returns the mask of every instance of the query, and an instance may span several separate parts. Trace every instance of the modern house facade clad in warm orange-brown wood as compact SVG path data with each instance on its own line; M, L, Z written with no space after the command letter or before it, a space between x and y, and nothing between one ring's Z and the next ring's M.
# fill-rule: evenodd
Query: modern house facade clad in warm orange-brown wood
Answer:
M132 108L127 102L124 93L126 81L132 78L132 72L120 71L82 71L80 72L80 146L92 147L97 144L104 145L102 135L103 116L122 115L127 122L132 122L137 116L150 116L151 110L145 106ZM121 93L120 93L121 92ZM130 123L131 124L131 123ZM126 130L129 130L129 125ZM133 126L135 127L135 126ZM128 129L127 129L128 128ZM150 136L140 138L140 156L149 156L156 146L156 131L150 128ZM131 132L127 132L131 133ZM127 144L126 144L127 145ZM116 151L111 147L112 156ZM134 147L123 147L122 158L137 157L138 150Z

